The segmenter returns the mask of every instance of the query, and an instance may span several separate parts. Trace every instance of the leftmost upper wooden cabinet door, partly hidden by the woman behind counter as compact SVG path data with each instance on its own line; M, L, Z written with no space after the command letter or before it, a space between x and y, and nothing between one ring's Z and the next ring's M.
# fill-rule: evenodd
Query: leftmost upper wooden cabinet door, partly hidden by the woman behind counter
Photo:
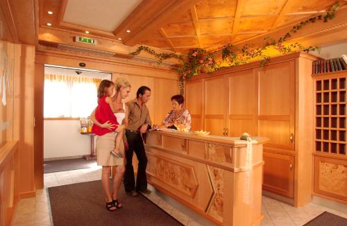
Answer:
M203 80L185 82L185 107L192 116L192 130L203 129Z

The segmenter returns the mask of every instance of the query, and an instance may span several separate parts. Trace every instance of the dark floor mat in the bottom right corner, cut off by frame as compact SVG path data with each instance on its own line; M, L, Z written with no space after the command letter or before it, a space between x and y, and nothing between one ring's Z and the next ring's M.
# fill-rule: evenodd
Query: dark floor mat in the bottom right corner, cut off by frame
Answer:
M346 226L347 218L337 216L325 211L323 214L310 220L305 225L307 226Z

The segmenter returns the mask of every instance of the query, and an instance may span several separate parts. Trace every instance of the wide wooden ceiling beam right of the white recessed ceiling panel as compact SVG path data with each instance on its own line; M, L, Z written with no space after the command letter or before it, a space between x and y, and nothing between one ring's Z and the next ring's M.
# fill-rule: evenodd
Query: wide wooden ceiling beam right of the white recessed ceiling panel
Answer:
M124 44L133 46L146 40L158 27L183 17L200 0L144 0L113 32ZM126 33L130 30L130 33Z

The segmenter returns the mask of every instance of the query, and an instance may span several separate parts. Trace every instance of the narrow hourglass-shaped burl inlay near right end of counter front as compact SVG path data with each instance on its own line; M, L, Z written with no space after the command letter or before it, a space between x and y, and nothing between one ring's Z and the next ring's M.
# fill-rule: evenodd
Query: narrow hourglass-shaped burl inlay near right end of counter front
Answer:
M210 202L208 215L223 222L223 188L224 188L224 171L221 168L208 166L210 169L210 177L214 190L214 195Z

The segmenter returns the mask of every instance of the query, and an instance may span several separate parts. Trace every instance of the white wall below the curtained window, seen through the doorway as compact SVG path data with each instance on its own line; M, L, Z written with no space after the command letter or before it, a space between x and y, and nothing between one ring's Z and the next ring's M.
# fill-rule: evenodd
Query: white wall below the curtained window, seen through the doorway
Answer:
M90 137L79 120L44 120L44 159L90 154Z

